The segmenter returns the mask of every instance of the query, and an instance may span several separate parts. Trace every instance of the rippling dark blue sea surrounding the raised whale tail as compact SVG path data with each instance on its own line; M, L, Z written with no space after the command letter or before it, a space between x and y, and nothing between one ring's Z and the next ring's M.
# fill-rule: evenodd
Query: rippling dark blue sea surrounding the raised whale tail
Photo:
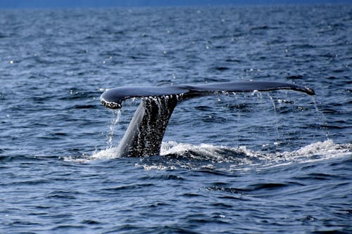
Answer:
M0 233L351 233L352 6L0 10ZM277 81L180 103L116 155L115 86Z

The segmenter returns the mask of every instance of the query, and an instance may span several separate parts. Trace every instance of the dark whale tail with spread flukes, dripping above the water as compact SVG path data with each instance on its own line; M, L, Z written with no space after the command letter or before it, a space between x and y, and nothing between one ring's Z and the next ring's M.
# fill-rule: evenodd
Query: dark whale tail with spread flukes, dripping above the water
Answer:
M144 157L160 154L161 142L177 103L189 98L217 92L251 92L289 89L315 95L313 89L282 82L224 82L175 86L124 86L108 89L100 100L106 108L122 108L123 100L142 98L118 145L122 157Z

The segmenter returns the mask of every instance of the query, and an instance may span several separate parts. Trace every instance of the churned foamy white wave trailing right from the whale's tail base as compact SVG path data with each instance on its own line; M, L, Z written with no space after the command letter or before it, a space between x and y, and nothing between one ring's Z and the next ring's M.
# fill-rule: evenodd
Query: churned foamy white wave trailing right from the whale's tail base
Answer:
M210 169L215 171L260 171L289 164L302 164L351 156L352 144L319 141L286 152L261 152L245 146L229 148L209 144L191 145L170 141L163 143L161 156L146 157L136 164L151 169Z

